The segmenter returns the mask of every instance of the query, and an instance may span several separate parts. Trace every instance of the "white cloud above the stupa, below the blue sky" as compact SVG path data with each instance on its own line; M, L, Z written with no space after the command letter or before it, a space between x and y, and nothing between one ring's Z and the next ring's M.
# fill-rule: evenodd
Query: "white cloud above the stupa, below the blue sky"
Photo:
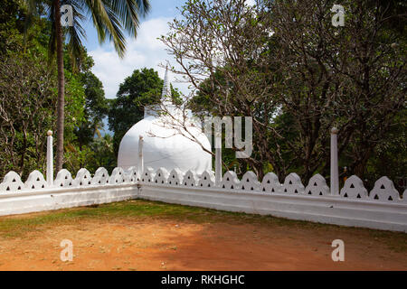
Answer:
M103 83L106 98L115 98L118 92L118 85L131 75L133 70L140 70L144 67L158 71L158 75L164 78L164 69L158 64L174 60L166 52L166 46L157 40L168 31L168 22L172 18L154 18L141 23L138 30L137 39L128 39L127 51L124 59L120 59L112 44L99 47L90 51L90 55L95 61L92 71ZM170 78L171 79L171 78ZM187 93L186 84L173 83L182 92Z

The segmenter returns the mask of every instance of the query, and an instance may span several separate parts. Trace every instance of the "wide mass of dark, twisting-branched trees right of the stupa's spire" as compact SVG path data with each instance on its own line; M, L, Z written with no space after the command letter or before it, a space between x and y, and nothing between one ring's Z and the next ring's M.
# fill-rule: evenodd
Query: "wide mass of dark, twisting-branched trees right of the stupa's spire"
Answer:
M173 72L192 83L203 114L253 117L254 150L242 159L260 177L329 173L329 130L340 162L364 177L391 128L405 123L405 4L345 1L191 0L162 38ZM202 101L204 100L204 101ZM402 126L403 127L403 126ZM405 130L404 128L402 128Z

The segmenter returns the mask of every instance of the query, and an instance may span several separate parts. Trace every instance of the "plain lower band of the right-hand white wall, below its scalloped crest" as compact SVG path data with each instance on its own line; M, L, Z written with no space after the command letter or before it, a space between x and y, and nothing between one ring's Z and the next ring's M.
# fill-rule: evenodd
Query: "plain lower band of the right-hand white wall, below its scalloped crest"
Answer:
M407 232L407 205L219 189L143 185L138 198L352 227Z

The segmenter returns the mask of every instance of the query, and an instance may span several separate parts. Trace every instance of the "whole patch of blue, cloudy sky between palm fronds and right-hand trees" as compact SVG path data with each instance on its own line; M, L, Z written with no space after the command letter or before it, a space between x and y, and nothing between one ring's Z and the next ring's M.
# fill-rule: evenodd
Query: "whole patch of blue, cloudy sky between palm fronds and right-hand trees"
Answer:
M91 21L84 24L87 39L84 41L89 54L95 61L92 71L102 81L106 98L115 98L119 83L128 77L133 70L144 67L153 68L158 75L164 78L164 69L158 64L175 61L165 50L165 45L156 38L168 32L167 23L175 16L179 16L176 7L185 4L185 0L150 0L151 10L146 18L140 19L137 39L127 38L127 52L124 59L120 60L113 45L107 41L99 44L98 35ZM187 84L174 83L173 85L187 92Z

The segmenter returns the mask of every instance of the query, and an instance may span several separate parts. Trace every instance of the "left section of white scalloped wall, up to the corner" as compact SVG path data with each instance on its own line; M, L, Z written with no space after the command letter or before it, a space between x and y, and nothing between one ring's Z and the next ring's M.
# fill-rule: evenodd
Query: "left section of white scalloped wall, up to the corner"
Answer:
M91 178L90 172L80 169L72 179L70 172L62 170L54 184L48 185L41 172L30 173L24 183L18 174L9 172L0 184L0 216L135 199L137 184L130 175L134 172L128 173L116 168L109 176L99 168Z

